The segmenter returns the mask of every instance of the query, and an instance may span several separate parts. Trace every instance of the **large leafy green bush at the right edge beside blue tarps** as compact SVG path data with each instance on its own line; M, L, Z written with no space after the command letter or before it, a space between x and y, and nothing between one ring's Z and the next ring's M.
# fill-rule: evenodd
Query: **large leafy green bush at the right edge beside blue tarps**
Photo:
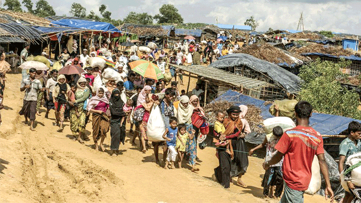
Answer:
M318 112L361 119L358 110L360 95L341 86L337 80L345 77L340 68L350 64L344 59L339 63L318 59L302 66L299 76L303 83L299 99L310 102Z

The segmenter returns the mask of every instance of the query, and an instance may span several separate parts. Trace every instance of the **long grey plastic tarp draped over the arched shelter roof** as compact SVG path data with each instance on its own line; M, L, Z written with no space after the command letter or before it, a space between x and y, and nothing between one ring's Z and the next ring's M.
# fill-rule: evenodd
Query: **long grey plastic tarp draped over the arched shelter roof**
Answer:
M241 65L245 65L261 73L266 73L276 84L280 84L290 93L298 92L301 89L301 79L297 75L288 72L278 65L258 59L245 53L234 53L226 55L221 59L213 62L209 66L224 69Z

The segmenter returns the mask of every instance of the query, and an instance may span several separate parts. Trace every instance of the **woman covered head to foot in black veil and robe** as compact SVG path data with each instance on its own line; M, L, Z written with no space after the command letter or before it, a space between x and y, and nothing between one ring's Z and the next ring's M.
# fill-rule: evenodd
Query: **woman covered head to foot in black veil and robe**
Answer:
M123 111L123 100L120 98L120 90L114 89L109 100L109 109L111 111L111 156L119 154L120 142L124 145L125 140L125 122L120 124L121 119L126 116ZM124 120L125 121L125 120Z

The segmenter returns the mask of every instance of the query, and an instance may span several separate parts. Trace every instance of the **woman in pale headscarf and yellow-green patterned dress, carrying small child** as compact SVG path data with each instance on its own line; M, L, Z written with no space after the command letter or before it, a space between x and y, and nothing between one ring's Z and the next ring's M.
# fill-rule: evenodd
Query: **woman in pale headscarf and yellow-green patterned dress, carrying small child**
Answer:
M82 132L85 130L86 125L86 111L84 110L84 101L89 98L90 89L87 87L87 80L84 77L81 77L77 82L77 90L75 92L75 102L69 102L71 106L78 108L78 114L75 111L75 108L70 110L70 129L80 143L84 143L80 137ZM77 136L77 133L78 136Z

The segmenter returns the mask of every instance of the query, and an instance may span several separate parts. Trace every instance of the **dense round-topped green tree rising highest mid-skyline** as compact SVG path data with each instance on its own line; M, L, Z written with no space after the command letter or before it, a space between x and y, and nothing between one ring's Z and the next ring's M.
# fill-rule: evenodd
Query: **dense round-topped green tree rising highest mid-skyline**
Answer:
M173 4L163 4L159 8L159 14L154 15L154 19L158 20L158 23L183 23L181 14L178 13L178 9Z

